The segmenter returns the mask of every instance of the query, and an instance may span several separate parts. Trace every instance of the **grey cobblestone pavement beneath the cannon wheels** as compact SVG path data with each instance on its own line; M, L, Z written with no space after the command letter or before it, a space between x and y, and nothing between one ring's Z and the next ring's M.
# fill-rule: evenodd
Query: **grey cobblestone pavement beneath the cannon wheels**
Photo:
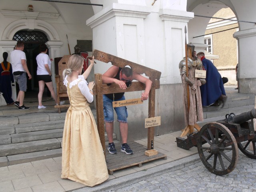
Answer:
M115 188L115 189L114 189ZM239 152L236 168L227 175L216 176L210 173L202 162L175 171L163 171L112 186L104 192L256 192L256 160Z

